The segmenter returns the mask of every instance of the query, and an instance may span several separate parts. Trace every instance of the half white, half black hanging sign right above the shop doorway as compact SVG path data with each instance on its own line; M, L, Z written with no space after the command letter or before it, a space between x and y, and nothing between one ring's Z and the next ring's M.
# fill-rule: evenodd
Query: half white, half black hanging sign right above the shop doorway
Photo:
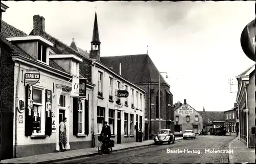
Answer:
M72 97L86 98L87 79L73 78L72 80Z

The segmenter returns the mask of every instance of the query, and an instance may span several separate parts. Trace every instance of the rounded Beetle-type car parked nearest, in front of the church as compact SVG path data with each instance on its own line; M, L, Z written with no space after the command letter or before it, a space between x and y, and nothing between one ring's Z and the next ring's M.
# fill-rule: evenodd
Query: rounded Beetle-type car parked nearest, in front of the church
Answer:
M161 129L158 131L158 135L154 138L155 144L173 143L175 142L175 136L170 129Z

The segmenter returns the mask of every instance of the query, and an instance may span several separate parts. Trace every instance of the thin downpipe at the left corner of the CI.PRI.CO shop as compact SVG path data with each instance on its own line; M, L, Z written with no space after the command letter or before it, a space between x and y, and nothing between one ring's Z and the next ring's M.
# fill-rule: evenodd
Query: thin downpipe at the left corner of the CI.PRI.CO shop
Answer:
M14 66L15 66L15 64L14 64ZM15 70L15 68L14 68L14 70ZM19 88L19 77L20 77L20 61L18 62L18 78L17 78L17 85L16 85L16 104L15 104L15 121L14 121L14 123L15 123L15 143L14 143L14 158L16 158L17 157L17 119L18 119L18 88ZM24 83L25 83L25 81L24 81Z

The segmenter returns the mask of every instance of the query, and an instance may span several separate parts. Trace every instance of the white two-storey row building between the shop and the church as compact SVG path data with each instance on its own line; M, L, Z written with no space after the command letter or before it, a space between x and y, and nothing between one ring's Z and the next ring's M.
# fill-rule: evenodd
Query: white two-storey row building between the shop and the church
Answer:
M98 60L93 61L94 135L96 144L103 122L111 127L116 144L136 142L136 125L144 130L145 91ZM117 90L127 90L129 97L118 98Z

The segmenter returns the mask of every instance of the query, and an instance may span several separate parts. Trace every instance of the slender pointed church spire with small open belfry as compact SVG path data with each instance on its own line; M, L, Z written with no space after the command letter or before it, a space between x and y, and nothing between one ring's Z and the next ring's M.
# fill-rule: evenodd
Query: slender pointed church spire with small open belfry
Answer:
M91 41L90 58L100 60L100 40L97 12L95 11L94 26L93 26L93 38Z

